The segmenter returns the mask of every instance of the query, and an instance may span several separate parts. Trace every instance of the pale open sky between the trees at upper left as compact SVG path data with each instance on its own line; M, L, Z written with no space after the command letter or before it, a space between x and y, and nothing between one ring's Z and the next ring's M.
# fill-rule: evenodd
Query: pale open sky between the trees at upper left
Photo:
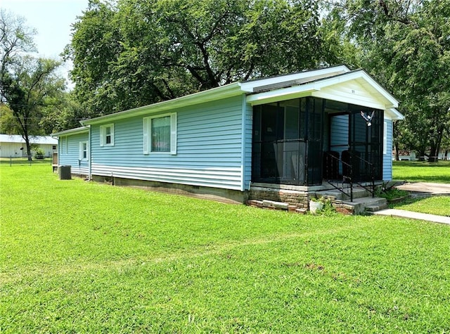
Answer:
M71 25L87 5L88 0L0 0L0 8L23 16L27 26L37 30L34 43L39 56L53 59L60 59L60 53L70 43ZM71 67L62 66L65 77Z

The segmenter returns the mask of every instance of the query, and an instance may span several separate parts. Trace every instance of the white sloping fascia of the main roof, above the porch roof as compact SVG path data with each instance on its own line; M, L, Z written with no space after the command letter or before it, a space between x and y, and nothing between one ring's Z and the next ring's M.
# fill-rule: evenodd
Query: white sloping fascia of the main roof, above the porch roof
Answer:
M272 84L280 84L282 82L289 82L293 80L306 79L308 77L320 77L338 75L350 72L350 69L345 65L335 66L333 68L321 68L319 70L310 70L305 72L293 73L290 75L278 75L276 77L269 77L267 79L255 79L240 84L242 90L248 93L253 93L256 88L262 86L270 86Z

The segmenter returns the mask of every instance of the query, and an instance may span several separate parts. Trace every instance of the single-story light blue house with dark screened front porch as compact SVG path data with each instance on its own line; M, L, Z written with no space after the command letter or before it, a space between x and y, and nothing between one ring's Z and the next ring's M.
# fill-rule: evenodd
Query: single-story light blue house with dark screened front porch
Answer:
M226 84L53 136L59 165L89 179L301 205L338 181L392 179L397 107L366 71L340 65Z

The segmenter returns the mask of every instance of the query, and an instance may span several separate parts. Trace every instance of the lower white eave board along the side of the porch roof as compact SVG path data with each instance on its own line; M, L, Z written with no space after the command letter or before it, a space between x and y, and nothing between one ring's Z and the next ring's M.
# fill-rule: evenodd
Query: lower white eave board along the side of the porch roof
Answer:
M264 93L253 94L247 96L247 103L251 105L259 105L264 103L271 103L276 101L290 100L293 98L300 98L309 96L313 91L316 91L314 83L302 84L300 86L291 86L288 88L275 89L274 91L264 91Z

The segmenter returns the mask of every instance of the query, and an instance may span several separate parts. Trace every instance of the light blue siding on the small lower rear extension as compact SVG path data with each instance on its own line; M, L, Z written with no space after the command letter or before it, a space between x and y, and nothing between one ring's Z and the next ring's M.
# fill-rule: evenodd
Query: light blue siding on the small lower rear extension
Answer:
M58 141L58 165L70 165L72 174L89 174L89 161L79 161L79 143L88 141L88 137L87 132L60 136Z

